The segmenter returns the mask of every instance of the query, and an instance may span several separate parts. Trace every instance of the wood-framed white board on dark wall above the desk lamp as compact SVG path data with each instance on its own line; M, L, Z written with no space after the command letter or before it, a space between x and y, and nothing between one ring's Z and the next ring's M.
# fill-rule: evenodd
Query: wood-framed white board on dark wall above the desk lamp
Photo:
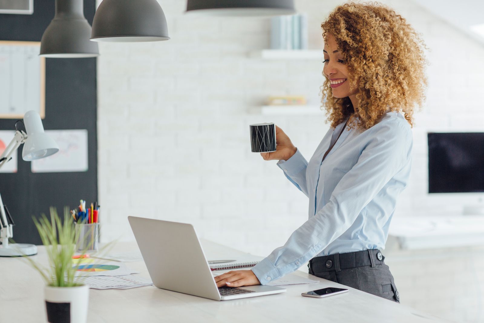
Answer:
M35 110L45 118L45 58L40 42L0 41L0 118L22 119Z

